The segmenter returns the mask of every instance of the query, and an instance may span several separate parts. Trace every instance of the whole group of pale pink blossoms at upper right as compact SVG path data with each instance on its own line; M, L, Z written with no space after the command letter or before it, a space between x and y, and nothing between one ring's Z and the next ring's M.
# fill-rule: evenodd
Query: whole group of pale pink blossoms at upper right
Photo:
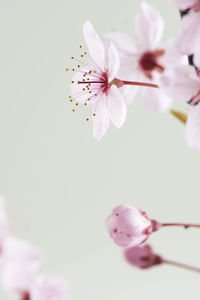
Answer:
M116 128L124 124L127 106L143 86L147 107L160 113L171 111L184 120L188 145L200 149L200 1L169 1L183 16L176 36L168 41L162 41L160 13L144 1L136 15L134 36L111 32L100 38L89 21L84 23L87 51L81 59L72 57L78 65L72 68L76 74L69 100L75 101L73 111L79 105L91 107L86 120L92 119L96 139L105 135L110 121ZM186 103L188 116L174 113L173 101Z

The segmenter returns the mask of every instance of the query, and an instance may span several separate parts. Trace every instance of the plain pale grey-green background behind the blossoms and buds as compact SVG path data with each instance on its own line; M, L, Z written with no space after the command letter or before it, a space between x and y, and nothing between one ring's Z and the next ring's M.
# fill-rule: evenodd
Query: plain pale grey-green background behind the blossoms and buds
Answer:
M179 23L167 1L155 4L165 37ZM73 300L199 299L197 274L128 266L104 220L129 203L161 221L199 222L199 153L183 125L148 111L140 96L119 131L97 142L82 112L64 101L82 24L99 34L133 31L140 1L1 0L0 193L13 232L44 252L43 271L70 281ZM150 239L169 259L200 266L200 232L163 229ZM1 289L1 299L11 299Z

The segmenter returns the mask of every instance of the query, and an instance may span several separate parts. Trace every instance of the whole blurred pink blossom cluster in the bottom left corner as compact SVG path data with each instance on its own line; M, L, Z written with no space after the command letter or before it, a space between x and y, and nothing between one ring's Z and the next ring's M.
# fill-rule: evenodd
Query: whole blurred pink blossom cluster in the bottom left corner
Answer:
M5 290L18 300L66 300L66 280L39 272L40 251L11 234L0 197L0 255L1 278Z

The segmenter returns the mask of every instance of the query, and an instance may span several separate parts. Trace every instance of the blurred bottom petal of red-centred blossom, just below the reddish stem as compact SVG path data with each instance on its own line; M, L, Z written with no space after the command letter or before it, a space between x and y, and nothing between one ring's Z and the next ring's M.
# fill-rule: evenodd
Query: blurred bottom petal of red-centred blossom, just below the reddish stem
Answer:
M172 104L172 99L161 89L144 88L142 95L147 107L155 112L166 112Z

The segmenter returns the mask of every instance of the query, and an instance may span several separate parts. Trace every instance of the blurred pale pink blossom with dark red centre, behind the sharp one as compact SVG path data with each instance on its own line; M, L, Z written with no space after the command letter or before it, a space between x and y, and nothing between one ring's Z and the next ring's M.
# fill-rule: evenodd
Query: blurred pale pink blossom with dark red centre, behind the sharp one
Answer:
M149 81L159 85L160 76L165 69L182 63L183 58L172 41L165 49L158 46L164 23L158 11L150 4L141 3L135 25L138 36L137 46L131 37L117 32L107 34L105 40L115 44L120 53L121 64L128 65L129 68L131 66L127 75L129 78L131 74L137 76L136 80L145 76ZM156 112L167 111L172 102L172 99L161 89L144 89L143 98L145 104Z

